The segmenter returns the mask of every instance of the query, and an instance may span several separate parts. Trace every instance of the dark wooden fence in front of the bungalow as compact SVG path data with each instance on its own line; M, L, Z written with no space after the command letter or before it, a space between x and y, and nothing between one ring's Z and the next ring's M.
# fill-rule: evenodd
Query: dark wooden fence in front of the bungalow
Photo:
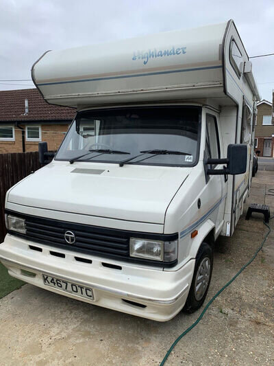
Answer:
M12 185L41 168L38 152L0 154L0 243L5 237L5 193Z

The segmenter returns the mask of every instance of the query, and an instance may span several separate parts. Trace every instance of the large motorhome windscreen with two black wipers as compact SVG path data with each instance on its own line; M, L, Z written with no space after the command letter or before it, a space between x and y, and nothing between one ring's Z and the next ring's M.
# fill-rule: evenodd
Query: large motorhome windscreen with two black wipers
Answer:
M115 108L78 113L56 160L194 165L201 108ZM83 155L81 157L81 155Z

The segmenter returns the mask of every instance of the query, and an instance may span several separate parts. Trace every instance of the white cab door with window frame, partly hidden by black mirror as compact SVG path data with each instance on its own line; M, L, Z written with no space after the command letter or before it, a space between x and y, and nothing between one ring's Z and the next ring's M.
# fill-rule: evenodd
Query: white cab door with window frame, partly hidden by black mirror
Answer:
M206 109L206 155L212 159L226 158L220 134L219 114ZM226 152L225 152L226 153ZM223 169L223 165L211 165L211 169ZM208 193L212 201L212 218L215 218L216 236L223 228L225 201L227 196L227 176L211 175ZM214 214L213 214L214 212Z

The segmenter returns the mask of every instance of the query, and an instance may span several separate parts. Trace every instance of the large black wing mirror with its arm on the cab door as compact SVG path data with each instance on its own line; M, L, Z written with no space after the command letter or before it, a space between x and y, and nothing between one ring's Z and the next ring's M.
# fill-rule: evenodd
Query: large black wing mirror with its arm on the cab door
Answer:
M226 164L223 169L208 169L208 164ZM247 145L229 144L227 159L206 159L206 175L243 174L247 170Z

